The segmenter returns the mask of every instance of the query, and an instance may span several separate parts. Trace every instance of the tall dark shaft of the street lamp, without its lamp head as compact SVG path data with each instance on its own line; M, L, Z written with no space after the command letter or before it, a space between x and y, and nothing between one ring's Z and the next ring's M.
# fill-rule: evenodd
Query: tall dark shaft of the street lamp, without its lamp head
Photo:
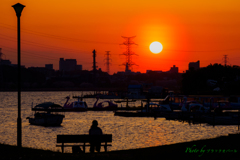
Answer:
M21 119L21 53L20 53L20 16L18 25L18 118L17 118L17 146L22 147L22 119Z

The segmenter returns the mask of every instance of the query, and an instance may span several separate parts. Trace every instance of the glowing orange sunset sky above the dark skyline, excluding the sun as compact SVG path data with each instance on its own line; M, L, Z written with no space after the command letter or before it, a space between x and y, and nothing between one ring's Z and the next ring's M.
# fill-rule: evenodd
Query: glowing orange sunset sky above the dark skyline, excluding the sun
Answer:
M0 48L6 59L17 63L17 17L11 7L25 5L21 16L22 65L53 64L59 58L77 59L84 70L92 69L92 50L97 66L106 71L105 51L110 51L110 74L124 71L126 46L121 36L138 45L132 71L168 71L176 65L188 69L222 63L240 65L240 1L238 0L1 0ZM149 45L159 41L163 51L153 54ZM3 56L3 58L5 58Z

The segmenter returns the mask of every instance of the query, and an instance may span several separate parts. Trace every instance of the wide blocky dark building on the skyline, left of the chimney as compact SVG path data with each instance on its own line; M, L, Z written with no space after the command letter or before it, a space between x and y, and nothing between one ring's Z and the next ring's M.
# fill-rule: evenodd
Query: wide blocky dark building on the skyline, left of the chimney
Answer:
M59 71L76 71L82 70L82 65L77 65L76 59L60 58L59 60Z

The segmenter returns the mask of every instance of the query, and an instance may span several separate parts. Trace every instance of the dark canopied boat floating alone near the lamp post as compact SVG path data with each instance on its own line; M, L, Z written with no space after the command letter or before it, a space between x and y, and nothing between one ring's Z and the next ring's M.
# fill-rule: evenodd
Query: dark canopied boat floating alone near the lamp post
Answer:
M63 114L59 114L62 108L58 104L44 102L32 107L32 110L35 110L34 117L27 117L26 119L33 125L60 126L65 117Z

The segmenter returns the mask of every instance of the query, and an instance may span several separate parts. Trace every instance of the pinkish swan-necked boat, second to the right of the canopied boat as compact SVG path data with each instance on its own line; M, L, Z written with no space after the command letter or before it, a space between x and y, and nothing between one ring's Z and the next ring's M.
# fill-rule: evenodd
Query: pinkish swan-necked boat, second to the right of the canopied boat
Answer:
M97 103L99 100L99 97L97 97L96 102L93 105L93 110L116 110L118 108L117 104L114 104L112 101L103 101L100 103ZM107 104L104 106L104 104Z

